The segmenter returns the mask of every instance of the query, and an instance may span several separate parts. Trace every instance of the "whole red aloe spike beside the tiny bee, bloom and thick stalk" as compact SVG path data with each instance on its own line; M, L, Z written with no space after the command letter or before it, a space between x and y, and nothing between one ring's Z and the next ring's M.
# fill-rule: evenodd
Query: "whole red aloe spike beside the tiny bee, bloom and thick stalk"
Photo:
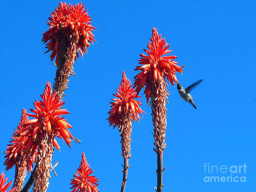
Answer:
M64 102L60 100L57 93L52 94L51 84L46 83L44 93L41 95L42 101L35 101L36 110L31 110L34 117L25 123L27 128L20 132L20 135L28 137L25 150L32 152L38 147L37 170L35 172L34 191L44 192L49 185L49 168L52 160L54 146L59 149L55 137L63 139L70 147L71 139L75 139L67 128L71 125L67 123L61 115L68 114L66 109L59 109Z

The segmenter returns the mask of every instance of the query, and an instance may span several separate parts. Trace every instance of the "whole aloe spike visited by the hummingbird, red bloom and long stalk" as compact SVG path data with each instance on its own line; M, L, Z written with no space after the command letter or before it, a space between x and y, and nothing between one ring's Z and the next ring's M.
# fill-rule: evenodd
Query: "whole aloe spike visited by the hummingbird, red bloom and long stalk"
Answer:
M140 54L139 64L135 70L141 72L137 74L134 82L137 94L145 86L145 96L147 102L151 98L151 109L154 125L154 151L157 153L157 192L163 188L163 151L166 148L166 101L169 92L166 88L167 82L172 85L177 83L176 72L182 73L182 67L178 66L174 59L177 56L163 56L172 52L169 45L161 35L158 35L157 29L153 28L151 42L148 42L148 49L143 49L147 55Z

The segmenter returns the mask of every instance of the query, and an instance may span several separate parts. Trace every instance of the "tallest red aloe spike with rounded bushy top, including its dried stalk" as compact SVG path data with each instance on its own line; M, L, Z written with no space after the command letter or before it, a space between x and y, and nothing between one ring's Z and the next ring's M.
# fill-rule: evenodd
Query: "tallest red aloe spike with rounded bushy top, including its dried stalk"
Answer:
M95 41L92 32L96 28L91 25L90 20L90 15L81 2L77 5L61 2L47 21L49 30L44 32L42 41L49 41L46 48L47 52L52 51L52 61L56 56L57 71L53 87L58 95L62 95L67 89L70 75L75 75L73 64L79 57L79 52L83 57L87 47Z

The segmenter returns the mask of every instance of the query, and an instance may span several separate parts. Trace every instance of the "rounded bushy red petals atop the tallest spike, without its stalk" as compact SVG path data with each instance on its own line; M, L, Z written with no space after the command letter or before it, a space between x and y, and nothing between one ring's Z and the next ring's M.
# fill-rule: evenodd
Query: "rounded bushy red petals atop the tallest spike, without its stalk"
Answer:
M59 6L51 13L49 21L49 30L43 34L44 43L47 43L47 49L52 51L50 57L53 60L55 56L58 57L58 38L65 36L70 38L73 36L76 38L76 48L80 52L81 56L87 52L86 47L90 46L90 43L95 41L93 35L93 29L96 29L90 25L90 15L87 13L87 9L84 10L84 5L78 3L77 5L71 5L67 3L59 3ZM76 58L79 57L76 52Z

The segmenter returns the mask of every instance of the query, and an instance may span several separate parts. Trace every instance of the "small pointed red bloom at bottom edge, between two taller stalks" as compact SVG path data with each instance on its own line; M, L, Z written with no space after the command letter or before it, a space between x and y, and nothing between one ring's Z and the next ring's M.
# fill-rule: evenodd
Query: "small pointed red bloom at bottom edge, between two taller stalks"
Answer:
M84 152L82 152L82 160L81 164L78 169L76 169L76 173L74 173L74 178L71 179L71 185L70 189L73 189L71 192L98 192L96 186L97 182L99 180L93 175L89 176L91 173L93 173L92 168L89 168L89 164L86 161L86 158L84 156ZM75 188L75 189L74 189Z

